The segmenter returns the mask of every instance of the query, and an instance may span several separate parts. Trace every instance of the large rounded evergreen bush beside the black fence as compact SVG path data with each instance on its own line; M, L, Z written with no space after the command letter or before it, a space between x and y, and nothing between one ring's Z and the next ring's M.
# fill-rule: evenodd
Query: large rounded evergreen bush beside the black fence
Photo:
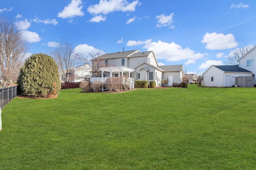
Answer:
M20 69L18 93L24 96L48 97L61 89L58 66L49 55L31 55Z

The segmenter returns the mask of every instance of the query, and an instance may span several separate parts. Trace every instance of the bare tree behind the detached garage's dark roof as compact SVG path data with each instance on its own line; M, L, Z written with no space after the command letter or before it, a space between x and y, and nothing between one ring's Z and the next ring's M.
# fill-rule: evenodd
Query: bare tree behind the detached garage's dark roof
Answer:
M243 57L248 51L253 48L252 45L245 46L243 48L237 48L233 50L228 56L228 60L225 62L227 65L238 65L238 60Z

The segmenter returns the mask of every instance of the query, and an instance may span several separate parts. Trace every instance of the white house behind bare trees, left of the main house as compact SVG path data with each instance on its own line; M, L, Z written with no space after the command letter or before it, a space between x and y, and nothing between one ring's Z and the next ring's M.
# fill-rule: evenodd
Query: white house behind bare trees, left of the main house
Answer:
M68 73L64 71L64 73L60 72L60 80L61 82L82 82L86 79L92 77L92 67L90 64L84 64L82 66L78 66Z

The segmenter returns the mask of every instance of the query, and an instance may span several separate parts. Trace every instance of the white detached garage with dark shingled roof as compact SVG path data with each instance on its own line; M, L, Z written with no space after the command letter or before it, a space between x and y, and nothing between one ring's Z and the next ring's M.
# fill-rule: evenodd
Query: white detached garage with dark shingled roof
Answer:
M232 87L236 84L236 77L252 76L252 72L238 65L210 66L204 73L204 86Z

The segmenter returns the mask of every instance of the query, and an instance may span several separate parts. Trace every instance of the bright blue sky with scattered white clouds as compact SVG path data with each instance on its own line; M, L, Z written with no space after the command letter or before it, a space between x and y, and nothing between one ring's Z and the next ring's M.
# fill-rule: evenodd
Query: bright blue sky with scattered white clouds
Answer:
M1 0L29 53L72 44L81 53L154 51L159 65L187 73L223 65L236 48L256 45L252 0Z

